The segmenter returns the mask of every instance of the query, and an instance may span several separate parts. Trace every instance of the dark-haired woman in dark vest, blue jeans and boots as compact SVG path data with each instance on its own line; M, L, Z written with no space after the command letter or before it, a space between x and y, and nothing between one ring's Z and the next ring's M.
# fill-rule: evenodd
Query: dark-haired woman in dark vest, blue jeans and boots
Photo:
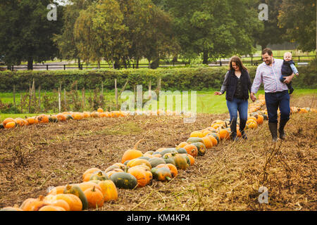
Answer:
M225 81L220 91L215 95L225 94L227 106L230 114L231 139L237 141L237 111L240 116L240 132L243 139L247 139L244 127L248 118L248 99L251 93L251 79L247 68L242 64L242 60L233 56L230 59L230 70L225 74Z

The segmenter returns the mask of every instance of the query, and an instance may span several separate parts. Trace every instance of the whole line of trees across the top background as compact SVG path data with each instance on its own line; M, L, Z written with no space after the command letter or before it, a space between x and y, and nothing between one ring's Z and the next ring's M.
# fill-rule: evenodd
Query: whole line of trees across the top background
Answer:
M296 42L316 49L313 0L71 0L57 4L57 20L46 18L49 0L0 0L0 55L6 65L54 58L80 64L106 60L113 68L149 68L159 60L192 60L254 53L256 45ZM268 20L259 20L267 4Z

